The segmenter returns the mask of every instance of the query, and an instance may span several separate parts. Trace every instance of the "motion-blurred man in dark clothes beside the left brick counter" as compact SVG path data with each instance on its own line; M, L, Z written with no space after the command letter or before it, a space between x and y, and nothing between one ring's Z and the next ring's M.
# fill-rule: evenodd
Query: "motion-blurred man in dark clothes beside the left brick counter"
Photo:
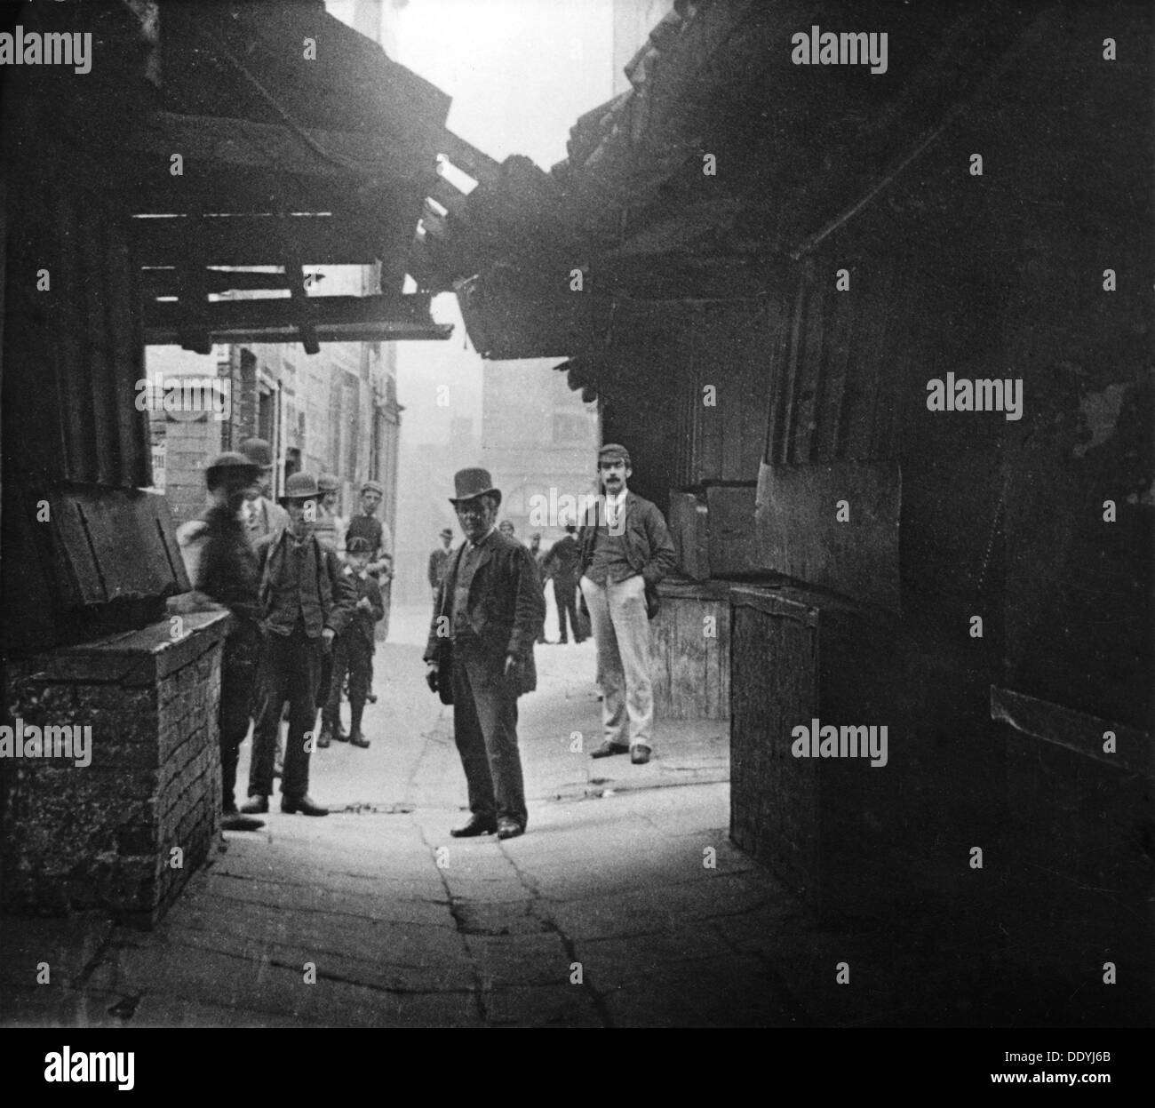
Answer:
M245 498L255 491L259 477L259 468L243 454L221 454L209 462L204 479L210 506L200 519L177 529L193 592L169 602L170 612L225 609L233 617L221 659L221 826L225 831L258 831L264 826L261 819L241 816L233 795L238 751L248 734L264 638L256 553L241 520Z

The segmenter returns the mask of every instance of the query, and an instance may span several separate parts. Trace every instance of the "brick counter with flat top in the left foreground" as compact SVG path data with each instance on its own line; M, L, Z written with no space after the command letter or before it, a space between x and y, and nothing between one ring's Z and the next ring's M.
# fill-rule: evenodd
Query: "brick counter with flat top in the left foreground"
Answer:
M208 858L226 627L198 614L8 660L6 723L90 727L91 760L0 759L5 912L99 907L149 927Z

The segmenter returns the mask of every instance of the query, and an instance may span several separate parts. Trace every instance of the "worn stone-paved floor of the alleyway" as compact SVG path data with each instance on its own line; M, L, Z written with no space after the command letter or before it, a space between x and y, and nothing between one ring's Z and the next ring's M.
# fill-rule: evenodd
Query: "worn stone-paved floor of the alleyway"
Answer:
M649 765L593 761L593 644L538 647L520 728L527 834L450 839L464 780L450 709L423 682L424 620L396 611L378 650L371 749L313 757L312 795L333 815L274 804L262 832L226 834L151 932L99 914L6 920L0 1024L893 1026L929 1002L940 1021L974 1014L930 951L895 950L886 925L815 930L730 843L724 723L660 721ZM985 947L953 945L937 953L954 981L968 965L981 976ZM859 988L836 983L843 960Z

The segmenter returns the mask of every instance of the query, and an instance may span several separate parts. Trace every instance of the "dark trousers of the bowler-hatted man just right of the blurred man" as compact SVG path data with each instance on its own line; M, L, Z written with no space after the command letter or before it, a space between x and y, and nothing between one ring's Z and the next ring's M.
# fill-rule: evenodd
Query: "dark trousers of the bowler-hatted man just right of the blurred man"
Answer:
M316 722L322 653L321 640L310 639L300 629L288 637L268 637L261 665L261 706L253 728L249 796L268 796L273 791L273 757L281 729L281 706L285 700L289 701L289 737L285 739L281 794L299 800L308 793L308 758Z

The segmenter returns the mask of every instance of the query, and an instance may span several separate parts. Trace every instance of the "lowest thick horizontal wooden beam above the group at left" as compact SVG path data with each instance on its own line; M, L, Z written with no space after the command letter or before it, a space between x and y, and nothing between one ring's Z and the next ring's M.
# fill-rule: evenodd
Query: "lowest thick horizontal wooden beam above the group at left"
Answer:
M453 333L452 325L430 318L427 296L314 296L306 303L318 342L448 339ZM290 297L144 305L144 341L152 345L179 343L194 333L213 342L300 342L300 326L301 308Z

